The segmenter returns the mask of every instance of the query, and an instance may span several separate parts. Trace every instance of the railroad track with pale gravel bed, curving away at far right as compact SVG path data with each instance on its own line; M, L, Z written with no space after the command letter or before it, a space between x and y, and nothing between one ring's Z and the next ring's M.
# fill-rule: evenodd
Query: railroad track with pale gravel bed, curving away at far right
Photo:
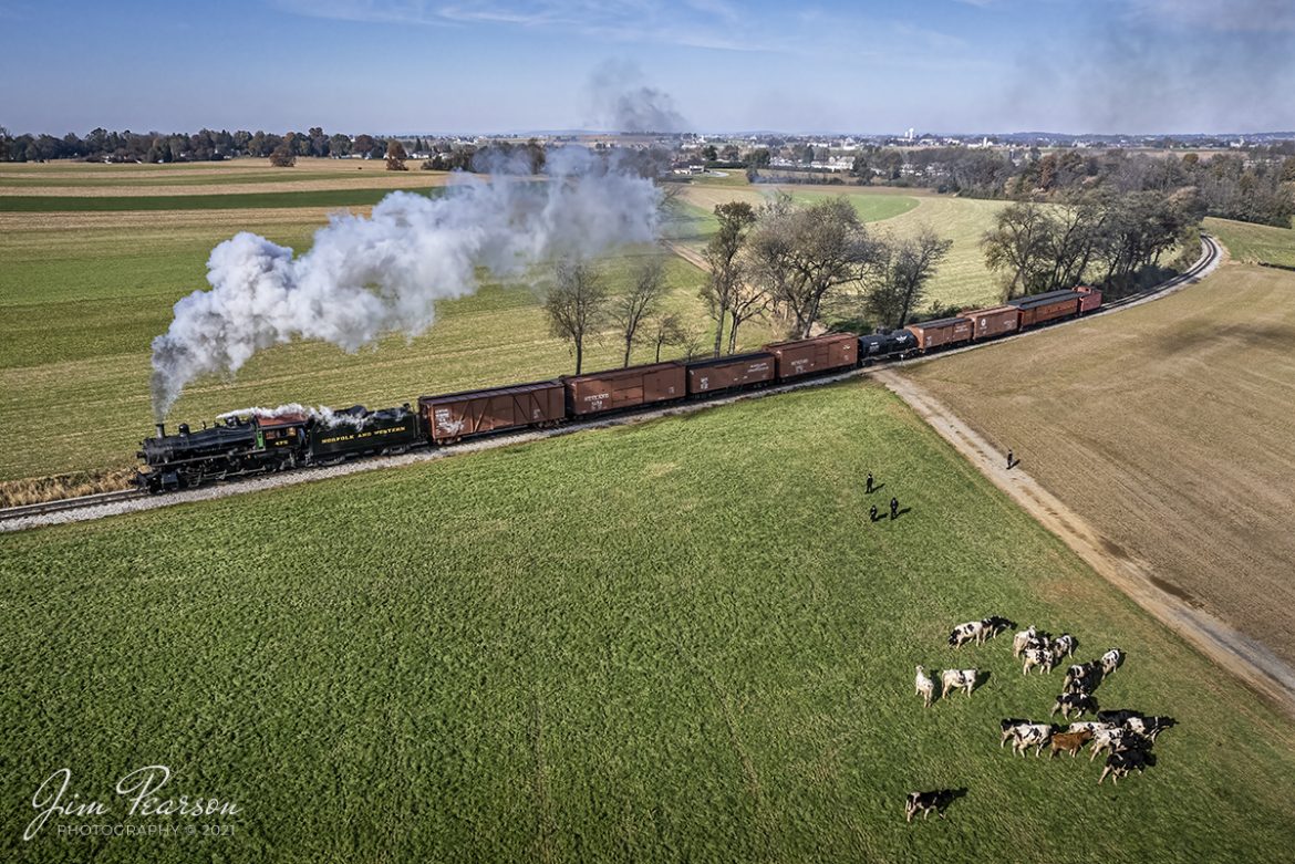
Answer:
M1168 294L1178 291L1180 288L1188 285L1194 285L1213 272L1213 269L1219 264L1220 256L1221 252L1219 243L1211 237L1202 235L1200 257L1185 273L1141 294L1129 297L1123 297L1120 300L1106 304L1102 307L1101 310L1085 316L1084 319L1097 314L1111 314L1114 312L1119 312L1120 309L1127 309L1133 305L1138 305L1166 296ZM701 256L693 255L686 257L692 263L704 268L704 260L701 260ZM918 362L938 362L941 357L958 354L963 351L978 351L980 348L985 348L988 345L996 345L998 343L1009 341L1011 339L1028 339L1035 332L1039 332L1041 330L1049 330L1050 327L1055 326L1066 326L1072 321L1077 319L1059 322L1057 325L1050 325L1048 327L1031 330L1023 334L1015 334L1013 336L1006 336L1002 339L995 339L993 341L989 343L978 343L973 345L966 345L965 348L956 348L952 351L940 352L938 354L927 357L887 362L884 363L884 366L881 366L879 369L906 366L909 363L918 363ZM835 382L846 380L848 378L869 375L872 374L873 369L878 367L855 369L834 375L815 378L811 380L795 382L790 384L778 384L759 391L732 393L728 396L721 396L717 398L710 398L704 401L672 402L668 406L663 407L644 409L615 416L598 418L596 420L566 423L554 429L527 429L526 432L519 432L519 433L512 433L512 435L505 433L501 436L478 438L475 441L456 444L449 448L421 449L414 453L408 453L399 457L378 457L370 459L357 459L355 462L346 462L343 464L332 467L300 468L285 473L275 473L260 477L243 479L229 484L218 484L212 486L203 486L201 489L190 489L185 491L175 491L162 495L150 495L142 490L127 489L122 491L102 493L98 495L85 495L83 498L65 498L62 501L52 501L41 504L26 504L23 507L10 507L0 510L0 532L17 532L28 528L39 528L43 525L58 525L63 523L88 521L92 519L101 519L104 516L114 516L118 513L135 512L141 510L155 510L158 507L168 507L171 504L179 504L185 502L228 498L229 495L240 495L243 493L256 491L260 489L290 486L290 485L297 485L299 482L311 482L315 480L324 480L328 477L356 473L359 471L376 471L378 468L390 468L396 466L412 464L414 462L426 462L427 459L440 459L464 453L475 453L478 450L504 448L513 444L521 444L523 441L536 441L540 438L554 437L558 435L570 435L572 432L580 432L584 429L607 428L613 426L624 426L627 423L641 423L645 420L653 420L662 416L692 414L693 411L701 411L712 407L715 405L728 405L739 400L760 398L764 396L785 393L804 387L821 387L824 384L831 384Z

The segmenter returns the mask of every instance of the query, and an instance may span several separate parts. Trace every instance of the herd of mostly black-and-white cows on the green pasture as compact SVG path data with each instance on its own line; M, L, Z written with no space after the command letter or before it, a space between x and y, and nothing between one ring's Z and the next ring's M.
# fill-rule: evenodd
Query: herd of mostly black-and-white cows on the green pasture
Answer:
M953 629L949 634L949 645L961 648L967 643L984 644L1015 626L1015 622L998 616L969 621ZM1028 675L1032 669L1048 674L1064 658L1074 658L1077 647L1079 642L1068 632L1053 636L1030 626L1011 640L1011 654L1022 661L1023 675ZM1111 648L1098 660L1070 665L1066 669L1062 691L1053 702L1049 720L1040 723L1022 718L1004 719L1000 723L998 746L1004 748L1010 741L1013 751L1022 757L1031 748L1036 757L1042 755L1044 748L1050 749L1052 757L1063 751L1075 757L1084 745L1092 744L1089 762L1102 753L1107 754L1102 775L1097 779L1098 784L1107 776L1111 777L1111 783L1118 783L1132 771L1141 773L1147 766L1155 764L1151 746L1160 732L1176 726L1176 720L1172 717L1147 717L1131 709L1103 711L1097 705L1096 689L1123 664L1124 652ZM939 674L939 697L945 698L951 692L960 689L971 696L979 682L979 669L943 670ZM930 707L936 698L936 680L927 675L922 666L917 667L916 686L917 695L922 697L925 706ZM1066 726L1052 723L1052 717L1058 713L1067 722ZM1081 718L1085 714L1096 719L1070 722L1072 715ZM909 793L908 821L913 821L916 814L922 814L925 819L931 811L943 817L944 808L961 794L965 794L965 790L938 789Z

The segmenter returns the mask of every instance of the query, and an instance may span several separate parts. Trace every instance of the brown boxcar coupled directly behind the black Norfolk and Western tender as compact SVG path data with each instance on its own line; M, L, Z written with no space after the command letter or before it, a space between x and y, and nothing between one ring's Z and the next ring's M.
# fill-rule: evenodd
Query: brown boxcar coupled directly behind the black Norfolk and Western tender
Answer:
M427 435L436 444L453 444L469 435L558 423L566 418L561 382L418 397Z

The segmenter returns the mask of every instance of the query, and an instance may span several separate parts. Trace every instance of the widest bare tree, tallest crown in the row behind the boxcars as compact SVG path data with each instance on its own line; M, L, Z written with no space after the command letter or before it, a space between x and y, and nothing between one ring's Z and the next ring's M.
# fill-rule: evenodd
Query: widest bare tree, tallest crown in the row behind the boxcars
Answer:
M749 244L752 277L790 317L790 334L802 338L813 331L824 301L857 282L873 259L868 232L844 195L802 208L767 204Z

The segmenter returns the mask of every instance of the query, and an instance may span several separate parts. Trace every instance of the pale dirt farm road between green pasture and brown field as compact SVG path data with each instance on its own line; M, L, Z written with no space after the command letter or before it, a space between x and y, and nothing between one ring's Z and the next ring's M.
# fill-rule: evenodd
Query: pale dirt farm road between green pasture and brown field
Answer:
M991 446L918 384L890 369L874 371L873 378L904 400L998 489L1024 507L1111 585L1254 691L1295 717L1295 670L1268 648L1208 612L1158 587L1143 563L1102 537L1019 467L1009 471L1006 454Z

